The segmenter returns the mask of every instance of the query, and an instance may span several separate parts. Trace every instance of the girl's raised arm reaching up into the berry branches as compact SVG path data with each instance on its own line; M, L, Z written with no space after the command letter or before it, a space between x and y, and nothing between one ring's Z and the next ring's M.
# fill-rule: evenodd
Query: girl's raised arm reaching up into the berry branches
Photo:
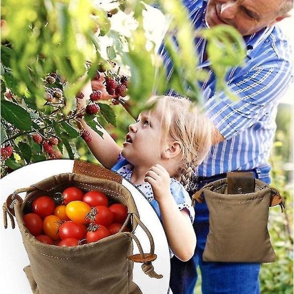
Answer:
M90 81L83 87L81 92L84 94L84 98L78 100L78 109L84 108L86 106L86 99L90 98L92 93ZM111 169L117 162L122 148L118 146L118 144L103 127L99 128L99 131L103 133L102 138L97 132L88 126L83 119L80 120L80 123L83 128L92 135L92 141L86 142L86 144L88 145L93 155L105 168Z

